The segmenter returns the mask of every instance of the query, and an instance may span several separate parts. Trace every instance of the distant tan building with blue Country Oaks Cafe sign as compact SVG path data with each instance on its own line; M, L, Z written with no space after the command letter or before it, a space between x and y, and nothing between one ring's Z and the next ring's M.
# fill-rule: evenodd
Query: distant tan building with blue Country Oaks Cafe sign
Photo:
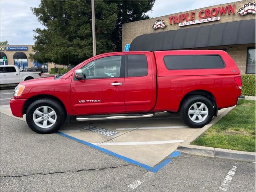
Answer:
M55 63L39 63L29 59L29 54L36 54L32 47L34 45L1 45L1 65L16 65L22 70L26 70L33 66L38 66L48 72L51 68L67 69L66 65ZM6 61L3 60L5 57Z

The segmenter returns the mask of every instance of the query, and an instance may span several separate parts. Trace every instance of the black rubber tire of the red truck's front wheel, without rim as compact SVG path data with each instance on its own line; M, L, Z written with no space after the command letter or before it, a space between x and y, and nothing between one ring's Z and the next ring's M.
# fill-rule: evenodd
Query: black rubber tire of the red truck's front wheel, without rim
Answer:
M36 109L47 106L49 108L52 108L54 112L56 113L56 121L52 124L49 128L42 128L36 125L36 123L33 120L33 114L36 111ZM43 113L43 112L42 112ZM44 114L44 113L43 113ZM40 116L38 116L40 117ZM55 117L55 115L54 115ZM26 111L26 121L30 129L32 129L34 132L40 133L40 134L49 134L57 132L60 127L65 122L65 109L61 106L61 104L55 100L52 99L39 99L31 103ZM42 120L44 122L44 119ZM39 123L42 123L39 122ZM48 122L48 121L46 121ZM50 126L50 125L49 125Z

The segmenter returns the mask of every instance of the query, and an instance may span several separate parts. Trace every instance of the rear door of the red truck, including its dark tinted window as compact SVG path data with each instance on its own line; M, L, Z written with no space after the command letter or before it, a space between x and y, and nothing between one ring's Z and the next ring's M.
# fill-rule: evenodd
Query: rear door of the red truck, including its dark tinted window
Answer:
M149 53L125 55L126 112L148 112L156 102L156 69ZM154 64L154 65L153 65Z

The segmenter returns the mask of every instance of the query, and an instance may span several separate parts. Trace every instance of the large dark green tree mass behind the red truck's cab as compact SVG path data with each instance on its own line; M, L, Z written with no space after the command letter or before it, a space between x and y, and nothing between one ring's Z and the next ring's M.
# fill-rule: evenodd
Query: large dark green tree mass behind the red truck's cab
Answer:
M122 24L147 19L144 13L153 4L154 1L95 1L97 54L121 51ZM38 54L30 54L31 59L78 64L93 55L91 1L41 1L38 8L31 10L46 27L35 30L33 50Z

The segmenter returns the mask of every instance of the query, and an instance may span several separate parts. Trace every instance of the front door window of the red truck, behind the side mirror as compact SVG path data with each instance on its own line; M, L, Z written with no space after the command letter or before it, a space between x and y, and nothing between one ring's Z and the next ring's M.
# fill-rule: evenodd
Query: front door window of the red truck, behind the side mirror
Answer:
M121 55L103 57L86 64L81 68L82 73L85 75L83 78L100 79L120 77L121 58Z

